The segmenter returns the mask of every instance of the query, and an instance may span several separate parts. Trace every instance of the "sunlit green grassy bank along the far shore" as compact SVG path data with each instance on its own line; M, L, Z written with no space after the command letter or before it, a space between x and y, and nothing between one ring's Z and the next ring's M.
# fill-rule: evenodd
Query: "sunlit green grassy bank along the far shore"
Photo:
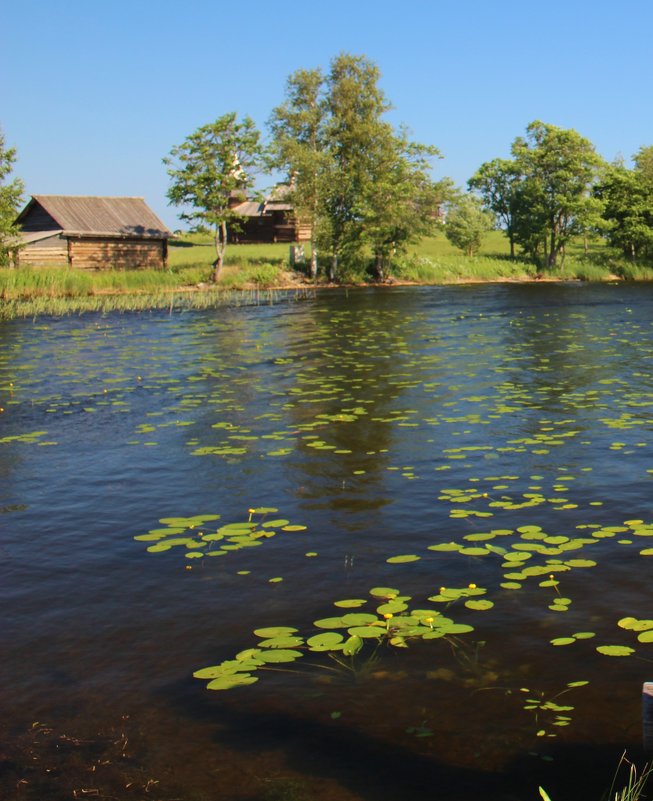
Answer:
M308 258L308 246L305 247ZM209 237L187 235L171 243L168 270L72 270L20 268L0 270L0 317L70 314L83 311L148 308L207 308L216 305L267 302L275 292L314 287L304 273L289 269L289 246L231 245L221 280L211 284L214 258ZM578 243L568 249L564 264L542 275L537 267L511 259L500 232L486 237L480 252L467 257L443 233L426 238L398 257L391 281L452 284L489 281L653 280L653 269L621 263L601 242ZM364 268L348 280L371 281ZM318 286L321 281L318 281ZM267 298L262 293L268 293Z

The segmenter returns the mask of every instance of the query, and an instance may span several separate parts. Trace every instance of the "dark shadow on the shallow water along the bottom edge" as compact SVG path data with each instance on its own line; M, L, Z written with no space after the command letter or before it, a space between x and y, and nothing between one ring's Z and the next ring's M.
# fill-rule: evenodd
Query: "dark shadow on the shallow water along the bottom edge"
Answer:
M172 696L179 714L214 722L213 740L239 751L244 758L266 751L281 751L284 764L302 776L298 799L306 796L311 780L331 780L363 801L524 801L539 799L538 786L552 801L607 798L624 749L614 745L549 745L541 755L524 753L501 772L439 762L435 756L397 747L338 721L317 721L258 708L255 713L223 702L220 693L197 691L184 683ZM165 693L166 702L170 696ZM232 699L233 701L233 699ZM464 728L464 720L461 720ZM637 746L628 747L628 759L645 763ZM622 768L615 789L625 785ZM268 801L268 794L247 801ZM289 797L291 797L289 795ZM348 796L349 797L349 796ZM614 791L612 793L614 797ZM216 796L216 801L221 801Z

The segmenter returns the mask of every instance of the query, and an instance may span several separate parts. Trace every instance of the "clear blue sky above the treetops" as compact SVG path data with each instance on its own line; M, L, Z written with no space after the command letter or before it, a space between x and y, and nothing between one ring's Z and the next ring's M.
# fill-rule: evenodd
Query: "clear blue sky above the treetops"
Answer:
M464 186L540 119L606 159L653 144L651 0L7 0L0 127L26 194L142 196L229 111L265 130L287 76L363 54L413 137ZM262 185L265 185L263 182Z

